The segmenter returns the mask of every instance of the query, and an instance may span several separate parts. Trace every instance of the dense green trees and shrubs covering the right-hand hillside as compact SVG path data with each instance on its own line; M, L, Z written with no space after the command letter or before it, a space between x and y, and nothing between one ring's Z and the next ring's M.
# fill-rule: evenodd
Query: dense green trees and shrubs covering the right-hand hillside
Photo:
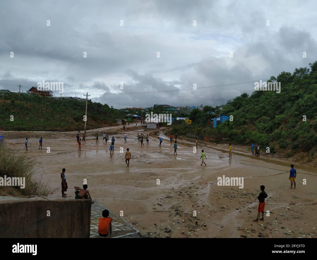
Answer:
M208 113L216 108L205 106L190 113L191 125L173 126L173 132L230 137L234 143L259 143L274 149L300 149L314 154L317 145L317 62L309 68L295 69L294 73L281 72L271 82L281 82L281 93L254 91L243 93L222 105L221 114L232 115L233 121L225 121L213 128ZM220 112L217 112L220 114ZM306 121L303 121L306 116Z

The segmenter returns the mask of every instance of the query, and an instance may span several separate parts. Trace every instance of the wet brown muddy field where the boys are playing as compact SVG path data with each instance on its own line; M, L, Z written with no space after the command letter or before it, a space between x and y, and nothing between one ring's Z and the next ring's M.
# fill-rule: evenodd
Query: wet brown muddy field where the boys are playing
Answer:
M117 215L123 210L123 218L146 237L317 237L315 168L294 163L297 186L289 189L288 160L252 157L235 151L234 146L229 159L227 145L212 143L199 144L194 153L193 143L181 138L178 155L173 155L166 137L161 147L155 136L141 147L137 141L140 130L151 132L130 126L126 128L127 142L120 127L105 130L116 139L113 158L109 157L109 143L102 142L104 130L99 132L98 144L96 132L90 130L81 151L76 132L3 134L11 149L36 160L36 177L49 182L52 197L61 197L60 173L66 168L68 196L74 196L72 187L82 186L87 179L93 199ZM26 134L29 151L24 147ZM43 149L38 150L41 136ZM129 168L124 161L126 148L132 153ZM207 166L200 165L202 149ZM223 175L244 177L243 189L218 186L217 177ZM266 187L269 216L266 213L264 222L254 223L260 185ZM194 211L197 216L193 216Z

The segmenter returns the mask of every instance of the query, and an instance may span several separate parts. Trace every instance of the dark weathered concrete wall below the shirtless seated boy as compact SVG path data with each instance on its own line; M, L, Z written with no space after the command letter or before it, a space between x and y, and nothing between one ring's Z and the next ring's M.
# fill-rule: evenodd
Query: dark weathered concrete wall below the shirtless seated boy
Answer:
M88 200L0 201L0 237L89 237L90 211L91 201Z

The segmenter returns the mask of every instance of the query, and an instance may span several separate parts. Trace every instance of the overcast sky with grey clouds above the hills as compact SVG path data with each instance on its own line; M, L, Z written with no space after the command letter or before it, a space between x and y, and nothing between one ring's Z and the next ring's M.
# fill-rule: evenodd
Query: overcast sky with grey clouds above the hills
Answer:
M21 84L26 91L45 80L63 82L62 96L88 92L115 108L221 105L254 83L199 87L276 77L317 60L316 6L315 0L1 1L0 89L18 91ZM197 90L186 90L193 84ZM155 93L164 90L176 91Z

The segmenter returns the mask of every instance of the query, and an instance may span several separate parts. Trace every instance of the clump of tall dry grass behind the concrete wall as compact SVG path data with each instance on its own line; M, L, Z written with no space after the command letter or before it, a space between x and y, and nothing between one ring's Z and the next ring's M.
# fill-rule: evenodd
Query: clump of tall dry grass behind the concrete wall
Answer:
M35 174L33 163L33 159L18 154L6 146L0 146L0 176L25 177L25 188L15 187L25 196L48 196L50 192L48 183L33 178Z

